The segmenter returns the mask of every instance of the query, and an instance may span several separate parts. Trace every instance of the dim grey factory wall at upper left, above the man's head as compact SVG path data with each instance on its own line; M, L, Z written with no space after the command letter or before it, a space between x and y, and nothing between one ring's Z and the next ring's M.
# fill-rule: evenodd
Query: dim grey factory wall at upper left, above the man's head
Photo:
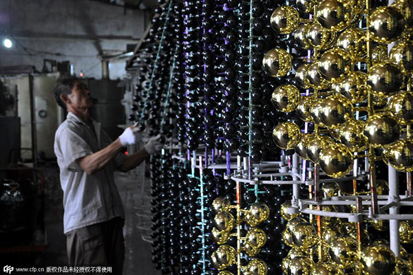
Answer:
M10 16L8 16L10 14ZM35 65L43 59L70 61L76 74L101 77L98 53L125 51L145 30L141 10L89 0L0 1L0 36L14 47L0 47L0 65ZM109 63L110 78L122 78L125 59Z

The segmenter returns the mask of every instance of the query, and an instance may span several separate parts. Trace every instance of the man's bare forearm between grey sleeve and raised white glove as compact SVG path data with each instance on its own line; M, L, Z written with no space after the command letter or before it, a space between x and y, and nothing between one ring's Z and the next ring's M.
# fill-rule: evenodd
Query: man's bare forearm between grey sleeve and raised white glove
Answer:
M81 157L76 159L76 162L81 166L87 175L93 175L96 171L100 170L105 166L122 148L119 138L114 142L106 146L100 151L87 155L86 157Z

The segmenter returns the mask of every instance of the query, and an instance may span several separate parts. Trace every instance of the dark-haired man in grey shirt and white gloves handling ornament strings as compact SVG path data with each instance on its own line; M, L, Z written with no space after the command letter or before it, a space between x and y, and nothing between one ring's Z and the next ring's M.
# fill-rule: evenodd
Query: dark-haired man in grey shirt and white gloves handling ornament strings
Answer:
M122 274L125 258L125 212L114 183L114 170L128 171L161 148L160 136L132 155L120 151L135 144L140 133L130 126L114 142L89 118L92 96L73 77L58 80L56 102L67 110L54 138L54 153L63 189L63 226L71 266L111 266ZM114 114L116 115L116 114Z

